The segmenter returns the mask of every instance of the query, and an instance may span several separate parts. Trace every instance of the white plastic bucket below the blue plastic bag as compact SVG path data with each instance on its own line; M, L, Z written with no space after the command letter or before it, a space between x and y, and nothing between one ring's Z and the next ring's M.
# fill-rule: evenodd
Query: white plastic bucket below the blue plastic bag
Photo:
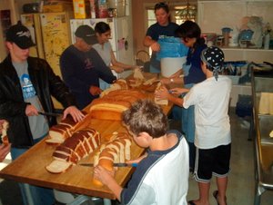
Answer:
M187 57L161 58L161 75L163 77L169 77L172 74L177 73L186 61Z

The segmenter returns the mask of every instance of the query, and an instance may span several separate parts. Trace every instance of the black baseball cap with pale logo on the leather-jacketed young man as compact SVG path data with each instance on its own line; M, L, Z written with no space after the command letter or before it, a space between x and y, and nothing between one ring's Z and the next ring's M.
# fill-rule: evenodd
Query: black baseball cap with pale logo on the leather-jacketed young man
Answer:
M35 45L29 30L20 21L7 30L5 41L13 42L21 49L26 49Z

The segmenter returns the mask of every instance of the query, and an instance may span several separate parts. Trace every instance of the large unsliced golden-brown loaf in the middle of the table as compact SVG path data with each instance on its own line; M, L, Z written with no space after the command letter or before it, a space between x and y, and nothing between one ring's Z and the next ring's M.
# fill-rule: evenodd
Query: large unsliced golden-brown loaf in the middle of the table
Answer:
M121 113L132 103L145 98L145 94L134 90L116 90L91 103L90 115L99 120L120 121Z

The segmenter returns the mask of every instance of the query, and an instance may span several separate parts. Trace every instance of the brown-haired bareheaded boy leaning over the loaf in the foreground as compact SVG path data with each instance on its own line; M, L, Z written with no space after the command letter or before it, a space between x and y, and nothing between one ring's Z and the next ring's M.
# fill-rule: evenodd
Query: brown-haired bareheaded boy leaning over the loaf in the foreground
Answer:
M96 166L95 177L112 190L122 204L187 205L188 146L184 136L167 131L167 116L150 100L139 100L123 112L122 121L134 141L147 153L135 161L136 171L122 188L113 173Z

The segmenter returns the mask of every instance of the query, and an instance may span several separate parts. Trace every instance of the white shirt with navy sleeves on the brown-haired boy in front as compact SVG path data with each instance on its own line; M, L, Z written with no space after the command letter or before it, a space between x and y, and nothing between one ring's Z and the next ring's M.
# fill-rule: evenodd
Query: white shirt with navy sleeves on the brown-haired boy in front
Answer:
M148 151L121 193L127 205L187 205L188 146L180 132L179 141L167 151Z

